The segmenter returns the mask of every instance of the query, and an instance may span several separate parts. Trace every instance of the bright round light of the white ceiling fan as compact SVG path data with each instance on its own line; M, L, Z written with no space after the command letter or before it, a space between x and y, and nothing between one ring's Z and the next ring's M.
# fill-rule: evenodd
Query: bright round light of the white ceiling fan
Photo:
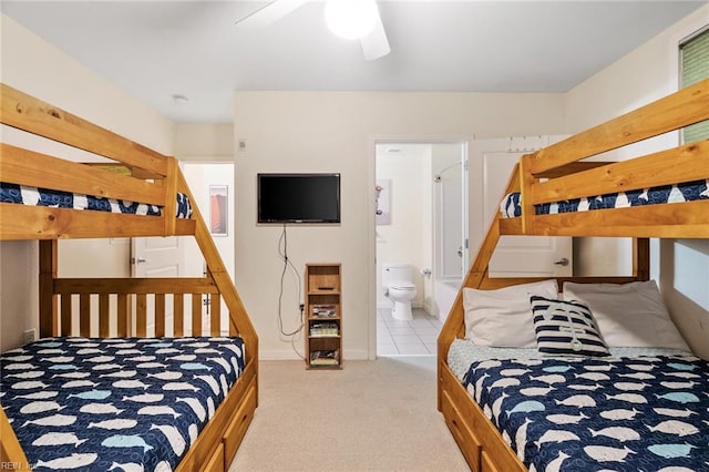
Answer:
M328 0L325 22L340 38L364 38L374 28L379 16L374 0Z

